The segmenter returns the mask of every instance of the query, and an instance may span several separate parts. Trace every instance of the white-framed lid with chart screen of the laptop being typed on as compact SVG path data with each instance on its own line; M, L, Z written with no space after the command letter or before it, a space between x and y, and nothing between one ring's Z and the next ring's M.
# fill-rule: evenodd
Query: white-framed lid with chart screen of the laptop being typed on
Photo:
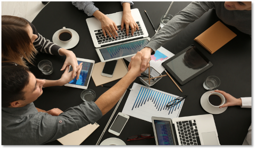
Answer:
M111 46L96 48L101 62L117 60L125 57L134 56L143 49L150 41L150 38L142 38L128 42L113 44Z

